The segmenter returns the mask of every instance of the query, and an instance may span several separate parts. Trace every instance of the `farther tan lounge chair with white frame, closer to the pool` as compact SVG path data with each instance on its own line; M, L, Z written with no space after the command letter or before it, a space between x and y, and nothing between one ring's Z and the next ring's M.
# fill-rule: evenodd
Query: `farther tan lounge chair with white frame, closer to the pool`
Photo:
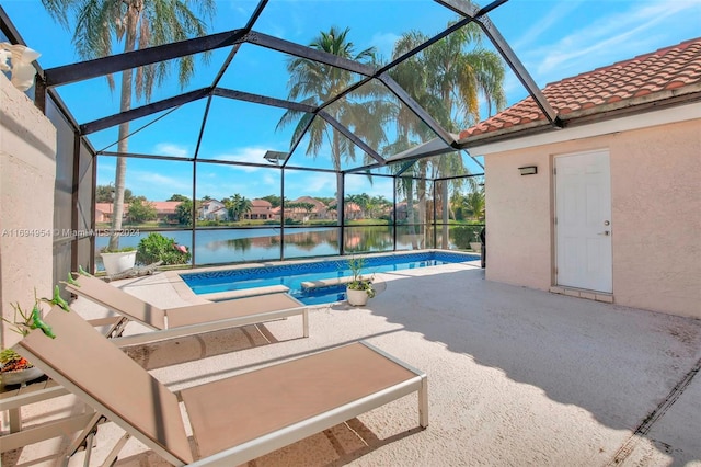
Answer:
M255 324L297 315L302 316L304 338L309 337L309 308L286 293L162 309L97 277L77 275L76 284L66 284L66 289L153 330L122 337L118 340L120 346Z

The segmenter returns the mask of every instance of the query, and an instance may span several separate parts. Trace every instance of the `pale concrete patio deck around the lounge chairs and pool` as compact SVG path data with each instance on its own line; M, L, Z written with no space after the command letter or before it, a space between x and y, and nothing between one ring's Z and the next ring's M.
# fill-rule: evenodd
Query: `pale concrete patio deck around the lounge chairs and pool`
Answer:
M308 339L295 339L298 318L289 318L130 353L173 389L358 339L428 374L427 430L417 428L410 396L256 467L701 465L701 321L487 282L479 264L378 276L384 286L367 308L313 309ZM166 274L118 284L162 307L185 304ZM73 308L102 314L82 299ZM199 360L172 365L184 355ZM53 400L51 415L59 406L76 410L71 398ZM39 410L25 409L25 423L41 422ZM93 462L118 436L101 425ZM3 456L2 465L54 465L59 443ZM166 465L135 440L123 454L119 466Z

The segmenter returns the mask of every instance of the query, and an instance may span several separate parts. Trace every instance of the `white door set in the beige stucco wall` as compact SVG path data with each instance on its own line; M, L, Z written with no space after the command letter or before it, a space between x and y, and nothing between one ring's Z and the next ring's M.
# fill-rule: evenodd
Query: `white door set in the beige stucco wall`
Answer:
M555 158L558 285L613 292L608 151Z

